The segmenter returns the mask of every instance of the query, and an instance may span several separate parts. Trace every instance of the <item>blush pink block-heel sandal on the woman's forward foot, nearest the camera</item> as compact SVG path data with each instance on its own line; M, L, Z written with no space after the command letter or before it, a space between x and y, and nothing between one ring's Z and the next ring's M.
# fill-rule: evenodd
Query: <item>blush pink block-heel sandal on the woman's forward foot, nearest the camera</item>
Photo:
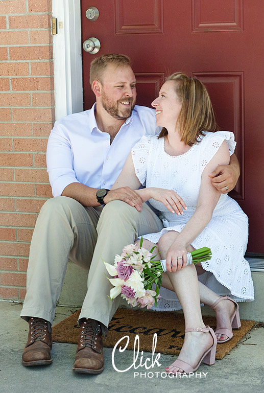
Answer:
M199 360L198 364L195 367L192 367L190 364L188 364L182 360L176 359L175 362L173 362L171 365L173 365L175 367L179 367L184 371L184 373L180 373L180 375L194 373L198 369L198 367L200 366L201 362L203 362L204 364L208 364L209 366L211 366L215 362L215 351L217 349L217 337L215 336L214 331L209 326L206 326L205 328L186 329L185 333L187 333L187 332L210 333L213 338L213 344L212 344L211 348L209 348L203 354L203 356L201 357L201 359ZM169 368L169 367L166 367L165 370L167 368ZM166 371L166 373L170 374L171 372Z

